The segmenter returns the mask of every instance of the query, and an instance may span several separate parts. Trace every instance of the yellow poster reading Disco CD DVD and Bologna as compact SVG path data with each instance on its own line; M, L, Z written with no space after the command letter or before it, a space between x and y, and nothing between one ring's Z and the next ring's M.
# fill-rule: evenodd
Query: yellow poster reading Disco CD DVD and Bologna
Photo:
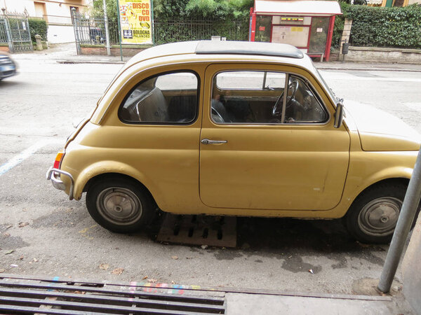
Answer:
M121 43L152 44L150 0L119 0Z

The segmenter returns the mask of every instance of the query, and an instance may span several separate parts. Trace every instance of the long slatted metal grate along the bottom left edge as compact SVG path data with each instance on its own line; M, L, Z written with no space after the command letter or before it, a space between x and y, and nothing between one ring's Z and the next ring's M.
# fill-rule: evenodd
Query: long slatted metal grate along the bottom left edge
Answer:
M185 288L0 278L0 314L225 314L225 297Z

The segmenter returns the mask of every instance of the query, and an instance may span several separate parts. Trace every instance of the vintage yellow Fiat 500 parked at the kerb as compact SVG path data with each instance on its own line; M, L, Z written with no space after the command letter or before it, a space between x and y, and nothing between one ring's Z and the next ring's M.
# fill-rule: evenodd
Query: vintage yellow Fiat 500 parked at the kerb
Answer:
M377 123L376 123L377 122ZM342 102L290 45L192 41L119 71L47 178L102 227L173 214L342 218L356 239L392 237L420 136Z

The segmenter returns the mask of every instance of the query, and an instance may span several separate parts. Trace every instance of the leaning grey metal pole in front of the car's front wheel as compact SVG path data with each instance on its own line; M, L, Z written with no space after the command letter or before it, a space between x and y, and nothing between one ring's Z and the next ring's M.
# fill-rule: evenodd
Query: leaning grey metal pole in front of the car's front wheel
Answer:
M401 214L399 214L398 223L387 252L385 265L383 266L382 275L380 276L379 288L383 293L387 293L392 286L396 269L398 269L399 260L405 247L406 239L410 231L410 227L417 214L418 204L421 199L421 148L418 152L417 162L406 190L405 199L403 200Z

